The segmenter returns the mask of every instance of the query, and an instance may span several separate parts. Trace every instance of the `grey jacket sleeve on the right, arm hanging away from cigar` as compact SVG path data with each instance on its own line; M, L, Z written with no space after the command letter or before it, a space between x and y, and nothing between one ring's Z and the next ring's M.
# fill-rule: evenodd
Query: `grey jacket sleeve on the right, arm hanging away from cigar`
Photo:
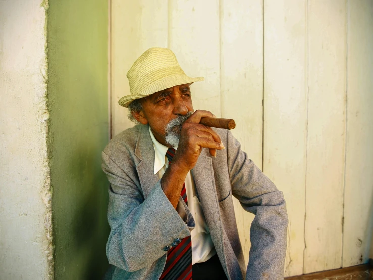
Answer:
M246 279L283 279L288 226L283 193L247 157L229 131L227 154L232 194L255 215Z

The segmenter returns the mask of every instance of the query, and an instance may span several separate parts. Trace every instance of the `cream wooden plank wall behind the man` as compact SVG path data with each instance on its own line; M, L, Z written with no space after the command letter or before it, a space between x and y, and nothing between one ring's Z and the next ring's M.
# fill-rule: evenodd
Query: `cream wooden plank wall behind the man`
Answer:
M285 275L365 263L373 242L373 1L111 0L112 135L126 73L171 48L195 109L234 118L233 134L284 192ZM253 216L235 201L248 261ZM373 250L373 249L371 249Z

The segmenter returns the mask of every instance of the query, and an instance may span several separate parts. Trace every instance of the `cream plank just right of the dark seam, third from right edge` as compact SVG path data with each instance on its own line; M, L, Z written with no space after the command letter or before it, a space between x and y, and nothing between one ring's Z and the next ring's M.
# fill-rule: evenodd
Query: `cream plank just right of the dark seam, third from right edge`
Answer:
M303 272L306 170L306 1L264 0L263 171L289 215L285 276Z

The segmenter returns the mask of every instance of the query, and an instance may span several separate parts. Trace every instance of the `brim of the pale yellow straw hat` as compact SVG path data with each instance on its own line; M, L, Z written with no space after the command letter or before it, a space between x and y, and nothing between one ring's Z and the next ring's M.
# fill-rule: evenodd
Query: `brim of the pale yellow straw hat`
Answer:
M176 85L201 82L201 81L204 81L203 77L191 78L191 77L188 77L187 75L182 75L182 74L164 77L163 79L156 80L153 83L149 84L147 87L143 88L141 92L137 95L127 95L127 96L122 97L118 101L118 103L119 105L128 108L129 104L136 99L140 99L140 98L155 94L155 92L158 92L158 91L161 91L161 90L164 90L166 88L170 88Z

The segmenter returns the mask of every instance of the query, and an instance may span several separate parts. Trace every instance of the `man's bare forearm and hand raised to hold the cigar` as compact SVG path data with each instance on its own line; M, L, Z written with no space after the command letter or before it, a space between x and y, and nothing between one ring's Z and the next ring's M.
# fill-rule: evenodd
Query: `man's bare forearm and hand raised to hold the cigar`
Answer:
M175 209L185 177L197 163L202 148L208 148L214 157L216 150L224 149L219 135L211 127L199 123L203 117L214 115L208 111L196 110L183 123L178 149L161 179L162 190Z

